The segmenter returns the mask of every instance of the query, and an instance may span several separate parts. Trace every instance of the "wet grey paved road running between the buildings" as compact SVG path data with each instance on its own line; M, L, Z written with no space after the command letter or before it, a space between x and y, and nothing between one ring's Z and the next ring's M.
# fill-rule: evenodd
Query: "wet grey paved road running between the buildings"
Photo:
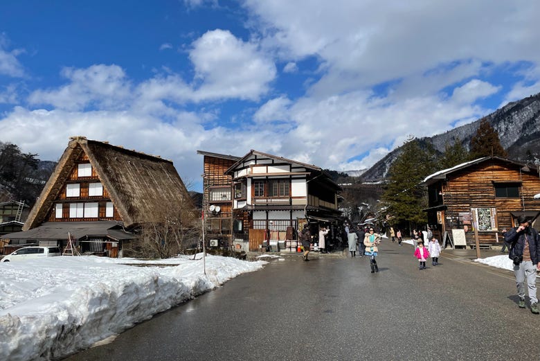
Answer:
M366 257L269 263L67 360L539 359L511 272L380 248L376 274Z

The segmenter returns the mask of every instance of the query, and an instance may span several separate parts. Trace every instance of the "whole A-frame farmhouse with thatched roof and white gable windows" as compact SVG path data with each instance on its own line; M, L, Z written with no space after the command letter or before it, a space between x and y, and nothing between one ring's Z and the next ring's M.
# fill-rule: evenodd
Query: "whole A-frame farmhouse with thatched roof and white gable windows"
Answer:
M71 236L81 252L127 256L141 226L186 210L194 206L172 161L72 137L23 231L2 238L65 247Z

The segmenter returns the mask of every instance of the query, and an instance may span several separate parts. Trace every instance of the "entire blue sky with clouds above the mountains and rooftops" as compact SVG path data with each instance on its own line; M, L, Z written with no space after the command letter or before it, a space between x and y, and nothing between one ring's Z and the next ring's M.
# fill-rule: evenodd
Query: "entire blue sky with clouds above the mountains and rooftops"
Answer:
M368 168L540 91L536 1L127 4L0 3L0 141L109 141L200 190L196 150Z

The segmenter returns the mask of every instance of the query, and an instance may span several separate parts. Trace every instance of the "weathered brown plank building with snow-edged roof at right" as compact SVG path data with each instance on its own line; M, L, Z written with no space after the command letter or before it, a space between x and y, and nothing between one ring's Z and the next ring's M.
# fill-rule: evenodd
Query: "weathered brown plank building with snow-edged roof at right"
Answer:
M501 157L484 157L441 170L424 179L428 224L440 240L456 245L502 245L501 229L516 225L519 215L540 213L537 167ZM533 223L536 226L536 223Z

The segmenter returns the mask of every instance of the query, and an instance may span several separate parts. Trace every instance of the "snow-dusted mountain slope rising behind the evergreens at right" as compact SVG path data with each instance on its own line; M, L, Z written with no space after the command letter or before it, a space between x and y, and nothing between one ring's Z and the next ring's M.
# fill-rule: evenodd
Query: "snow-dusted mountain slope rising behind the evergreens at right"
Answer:
M498 132L501 146L508 152L510 159L525 163L540 162L540 93L508 103L485 118ZM480 119L443 134L420 138L419 141L433 143L436 150L443 152L447 143L458 140L469 150L471 138L476 134L479 125ZM399 147L389 152L366 170L362 175L363 182L377 182L386 178L390 164L401 154L401 149Z

